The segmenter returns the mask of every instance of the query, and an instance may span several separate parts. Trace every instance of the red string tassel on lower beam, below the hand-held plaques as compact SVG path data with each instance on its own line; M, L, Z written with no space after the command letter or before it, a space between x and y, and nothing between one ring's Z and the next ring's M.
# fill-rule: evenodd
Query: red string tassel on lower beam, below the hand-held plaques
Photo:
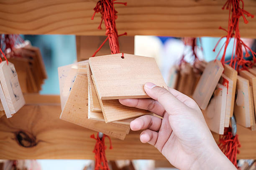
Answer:
M94 134L91 135L91 138L97 141L93 150L93 153L95 153L95 170L110 170L105 155L105 150L107 149L105 146L105 137L109 139L110 149L112 149L113 147L109 136L103 134L103 137L100 139L99 133L97 133L97 138L95 138Z

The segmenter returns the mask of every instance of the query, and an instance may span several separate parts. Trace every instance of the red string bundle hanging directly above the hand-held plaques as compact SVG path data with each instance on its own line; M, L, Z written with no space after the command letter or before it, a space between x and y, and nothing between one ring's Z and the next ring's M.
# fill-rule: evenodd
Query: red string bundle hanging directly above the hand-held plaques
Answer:
M120 53L119 49L119 42L118 37L121 35L127 35L125 32L124 34L118 35L118 31L115 25L115 20L117 19L117 11L115 10L114 4L123 4L127 5L126 2L114 2L115 0L99 0L94 8L94 14L92 15L92 20L95 17L96 13L100 13L101 21L100 25L98 27L99 30L101 30L102 21L104 20L105 28L106 28L106 35L108 36L106 40L100 45L100 47L95 51L95 53L92 55L94 57L96 53L101 49L101 47L105 44L105 42L108 40L111 54L117 54Z

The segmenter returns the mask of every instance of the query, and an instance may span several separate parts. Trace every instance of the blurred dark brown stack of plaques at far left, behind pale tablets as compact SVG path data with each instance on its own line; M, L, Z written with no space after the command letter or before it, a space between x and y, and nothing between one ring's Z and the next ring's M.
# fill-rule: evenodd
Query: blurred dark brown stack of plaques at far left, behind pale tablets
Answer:
M8 60L15 65L22 92L39 92L47 78L40 49L26 45L15 49L14 54Z

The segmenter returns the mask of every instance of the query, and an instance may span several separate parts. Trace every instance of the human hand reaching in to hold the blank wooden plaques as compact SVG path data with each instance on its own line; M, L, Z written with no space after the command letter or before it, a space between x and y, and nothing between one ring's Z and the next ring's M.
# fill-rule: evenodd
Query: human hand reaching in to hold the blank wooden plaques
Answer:
M154 145L179 169L236 169L218 148L197 103L181 92L148 82L151 98L120 99L119 102L154 112L131 122L131 130L143 130L142 143Z

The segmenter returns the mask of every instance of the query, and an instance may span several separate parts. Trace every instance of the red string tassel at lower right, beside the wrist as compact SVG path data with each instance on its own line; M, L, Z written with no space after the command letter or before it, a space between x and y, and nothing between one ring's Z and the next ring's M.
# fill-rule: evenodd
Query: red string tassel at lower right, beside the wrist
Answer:
M225 128L224 135L220 135L219 148L228 157L228 159L237 167L236 155L240 153L238 148L241 144L238 140L238 135L232 135L231 128Z

